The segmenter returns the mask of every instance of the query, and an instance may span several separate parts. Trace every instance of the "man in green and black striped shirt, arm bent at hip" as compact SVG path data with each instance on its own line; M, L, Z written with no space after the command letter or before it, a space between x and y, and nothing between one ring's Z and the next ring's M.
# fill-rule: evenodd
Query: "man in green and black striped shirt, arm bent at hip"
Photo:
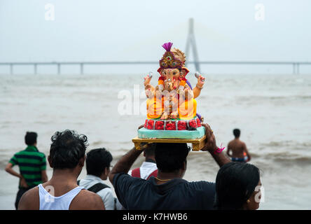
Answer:
M38 148L36 148L37 137L38 134L36 132L27 132L25 136L27 148L24 151L15 153L8 165L6 165L6 172L20 178L19 190L15 201L16 209L18 209L20 198L27 190L48 181L48 176L46 175L46 155L39 152ZM20 174L14 171L13 167L15 165L20 167Z

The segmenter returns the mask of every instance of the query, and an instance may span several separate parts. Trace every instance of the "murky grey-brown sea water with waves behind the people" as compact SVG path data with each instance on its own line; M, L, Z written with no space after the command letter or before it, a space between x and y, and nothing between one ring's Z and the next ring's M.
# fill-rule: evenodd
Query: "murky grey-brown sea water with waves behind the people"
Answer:
M88 150L104 147L113 164L132 147L146 119L144 74L1 75L0 209L14 209L18 178L4 171L25 148L25 132L38 133L39 151L48 155L56 131L88 137ZM260 209L311 209L311 76L208 75L197 111L227 146L241 130L251 164L261 170ZM196 78L188 74L195 86ZM157 77L151 80L156 85ZM127 108L124 103L127 102ZM139 167L141 155L133 167ZM48 167L48 165L47 165ZM218 165L207 152L191 152L184 179L215 181ZM15 168L18 171L18 168ZM52 169L47 168L48 177ZM79 176L85 176L85 168ZM106 181L111 186L109 181Z

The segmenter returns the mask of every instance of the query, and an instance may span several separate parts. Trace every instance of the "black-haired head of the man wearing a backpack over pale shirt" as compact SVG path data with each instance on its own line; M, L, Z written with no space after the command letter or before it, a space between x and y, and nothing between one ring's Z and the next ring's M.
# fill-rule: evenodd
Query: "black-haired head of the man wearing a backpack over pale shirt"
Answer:
M101 176L105 167L110 167L112 155L105 148L95 148L86 154L86 172Z

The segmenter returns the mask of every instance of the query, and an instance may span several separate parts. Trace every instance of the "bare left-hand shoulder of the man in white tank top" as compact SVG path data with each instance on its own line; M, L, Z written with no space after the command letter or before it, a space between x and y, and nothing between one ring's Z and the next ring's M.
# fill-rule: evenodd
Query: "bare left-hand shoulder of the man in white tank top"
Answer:
M34 187L27 190L24 195L22 195L20 202L18 203L18 210L39 210L39 189Z

